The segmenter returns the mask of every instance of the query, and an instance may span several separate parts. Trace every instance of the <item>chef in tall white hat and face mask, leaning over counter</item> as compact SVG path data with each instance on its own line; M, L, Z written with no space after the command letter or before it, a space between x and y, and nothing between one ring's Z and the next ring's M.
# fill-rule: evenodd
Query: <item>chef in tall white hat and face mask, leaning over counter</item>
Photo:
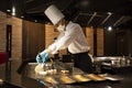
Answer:
M74 66L85 73L92 73L92 63L88 55L89 45L79 24L67 22L65 15L54 6L50 6L45 15L52 21L54 28L61 33L57 40L36 56L37 63L45 63L50 54L68 48L74 59Z

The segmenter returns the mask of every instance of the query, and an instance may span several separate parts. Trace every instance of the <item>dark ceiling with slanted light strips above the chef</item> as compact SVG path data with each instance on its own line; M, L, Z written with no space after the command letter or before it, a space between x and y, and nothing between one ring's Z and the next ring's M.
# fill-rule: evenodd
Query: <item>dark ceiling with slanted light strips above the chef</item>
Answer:
M132 0L2 0L0 10L7 12L16 8L16 15L23 19L50 22L44 10L56 4L66 15L82 26L130 26L132 25ZM8 12L10 13L10 12Z

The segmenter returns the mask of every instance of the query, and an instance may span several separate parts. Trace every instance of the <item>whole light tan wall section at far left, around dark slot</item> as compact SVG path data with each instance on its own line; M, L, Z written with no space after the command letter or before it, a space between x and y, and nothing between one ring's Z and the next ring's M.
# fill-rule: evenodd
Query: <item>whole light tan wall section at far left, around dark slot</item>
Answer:
M0 52L7 52L7 24L12 25L11 58L22 57L22 20L0 11Z

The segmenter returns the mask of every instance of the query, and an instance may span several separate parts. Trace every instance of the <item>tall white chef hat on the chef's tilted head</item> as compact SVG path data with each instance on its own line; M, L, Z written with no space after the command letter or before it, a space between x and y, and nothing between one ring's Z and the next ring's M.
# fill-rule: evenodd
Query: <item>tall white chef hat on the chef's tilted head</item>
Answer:
M50 6L44 13L54 25L57 24L64 18L64 14L54 4Z

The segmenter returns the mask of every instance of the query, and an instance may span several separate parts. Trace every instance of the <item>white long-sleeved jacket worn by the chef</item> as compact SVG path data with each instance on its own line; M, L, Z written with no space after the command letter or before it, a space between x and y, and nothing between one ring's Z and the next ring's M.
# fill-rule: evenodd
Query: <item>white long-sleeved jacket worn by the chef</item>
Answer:
M67 24L66 31L59 34L57 41L48 46L48 48L53 51L53 54L66 47L68 47L72 54L89 51L88 42L80 25L72 21Z

